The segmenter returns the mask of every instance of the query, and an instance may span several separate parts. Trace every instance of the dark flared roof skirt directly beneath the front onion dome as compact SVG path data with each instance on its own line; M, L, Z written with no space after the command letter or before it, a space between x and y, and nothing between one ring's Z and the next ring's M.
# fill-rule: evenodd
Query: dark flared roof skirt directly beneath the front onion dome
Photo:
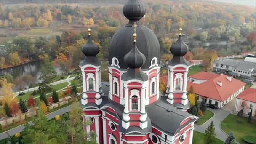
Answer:
M134 79L141 80L141 81L147 81L147 80L149 80L149 77L144 72L142 72L141 69L129 68L127 70L127 72L125 72L122 75L121 79L123 81L134 80Z

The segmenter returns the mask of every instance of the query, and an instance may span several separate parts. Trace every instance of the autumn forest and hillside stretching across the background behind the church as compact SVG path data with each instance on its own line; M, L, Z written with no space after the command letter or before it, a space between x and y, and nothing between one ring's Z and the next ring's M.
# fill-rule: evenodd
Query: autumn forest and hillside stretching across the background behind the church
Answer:
M118 4L123 4L124 0L115 0L111 6L86 4L101 3L100 0L56 5L48 4L47 0L44 2L41 5L0 4L0 68L50 59L68 72L84 58L80 48L86 43L88 27L101 49L98 57L106 60L111 37L128 23L122 13L123 6ZM165 60L171 59L170 47L177 39L179 27L184 29L184 41L189 46L188 60L203 59L203 53L212 50L218 55L255 50L256 14L253 8L218 2L143 2L147 13L141 23L157 35ZM212 41L226 41L229 45L202 48L195 44Z

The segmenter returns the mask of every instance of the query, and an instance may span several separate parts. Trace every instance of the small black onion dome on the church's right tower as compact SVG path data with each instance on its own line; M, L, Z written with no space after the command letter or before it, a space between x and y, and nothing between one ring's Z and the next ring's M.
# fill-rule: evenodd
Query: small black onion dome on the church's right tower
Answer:
M173 54L173 56L185 56L188 52L189 48L187 45L183 42L181 35L179 35L178 40L171 45L170 51Z

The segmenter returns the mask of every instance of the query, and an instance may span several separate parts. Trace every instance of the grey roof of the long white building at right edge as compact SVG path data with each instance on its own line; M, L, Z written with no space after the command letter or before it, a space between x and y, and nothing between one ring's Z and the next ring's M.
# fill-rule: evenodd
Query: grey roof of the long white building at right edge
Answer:
M234 67L234 69L241 69L245 71L250 71L252 69L256 69L256 63L249 62L249 61L240 61L236 59L227 59L222 58L217 61L214 61L215 64L224 64L228 66Z

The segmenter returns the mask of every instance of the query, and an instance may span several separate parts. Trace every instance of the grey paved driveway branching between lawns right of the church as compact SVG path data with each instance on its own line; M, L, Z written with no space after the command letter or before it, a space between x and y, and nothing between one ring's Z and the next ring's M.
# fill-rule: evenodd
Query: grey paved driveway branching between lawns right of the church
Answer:
M195 131L205 133L205 129L208 127L208 125L210 125L211 121L213 121L215 125L216 138L220 139L221 141L225 141L227 139L227 134L221 130L220 124L222 120L224 120L229 115L230 112L222 109L216 109L216 110L209 109L209 110L214 112L215 115L211 118L211 120L206 122L204 125L195 125Z

